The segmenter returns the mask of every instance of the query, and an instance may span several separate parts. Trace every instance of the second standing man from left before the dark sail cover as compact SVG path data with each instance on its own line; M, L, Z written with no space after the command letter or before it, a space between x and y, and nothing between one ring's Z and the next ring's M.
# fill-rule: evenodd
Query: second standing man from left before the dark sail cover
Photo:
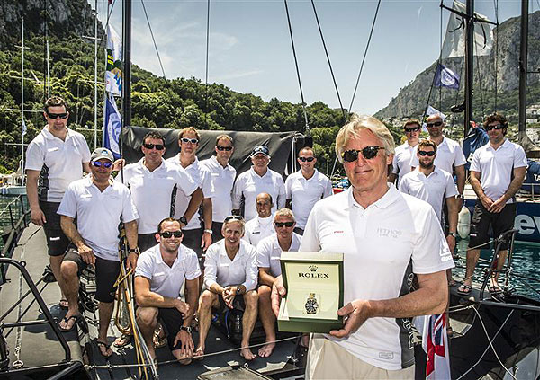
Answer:
M168 158L166 163L172 163L181 167L187 172L199 188L202 189L202 217L197 209L193 217L187 218L185 214L191 196L186 196L183 192L176 194L175 218L184 225L184 245L197 252L199 258L202 258L202 252L206 251L211 244L211 182L210 172L199 165L199 159L196 156L201 137L197 129L193 127L184 128L178 136L178 146L180 153L174 157Z

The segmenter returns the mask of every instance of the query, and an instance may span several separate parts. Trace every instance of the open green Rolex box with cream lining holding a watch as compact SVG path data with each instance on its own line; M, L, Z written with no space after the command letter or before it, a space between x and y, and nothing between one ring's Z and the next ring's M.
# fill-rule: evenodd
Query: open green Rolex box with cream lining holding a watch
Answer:
M279 331L339 330L343 317L343 253L283 252L282 275L287 294L281 301Z

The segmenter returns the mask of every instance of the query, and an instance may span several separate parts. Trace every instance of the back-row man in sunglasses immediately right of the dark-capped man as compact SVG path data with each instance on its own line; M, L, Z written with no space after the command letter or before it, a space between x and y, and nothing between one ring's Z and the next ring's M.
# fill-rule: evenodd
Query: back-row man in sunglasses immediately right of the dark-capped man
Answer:
M310 146L303 147L298 153L301 170L293 172L285 181L287 206L293 209L296 216L294 232L303 234L311 208L319 199L334 194L329 177L315 169L317 158Z

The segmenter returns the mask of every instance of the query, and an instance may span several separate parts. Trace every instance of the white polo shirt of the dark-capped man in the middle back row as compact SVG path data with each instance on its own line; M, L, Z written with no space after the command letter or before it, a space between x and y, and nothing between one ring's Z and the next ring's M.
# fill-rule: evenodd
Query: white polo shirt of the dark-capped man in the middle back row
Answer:
M244 197L244 218L251 220L257 217L257 208L255 207L255 199L261 192L266 192L272 196L274 207L272 214L278 208L285 207L285 182L284 178L270 170L266 170L262 177L253 170L253 166L247 172L238 175L237 181L234 184L232 191L232 208L240 208L242 196Z

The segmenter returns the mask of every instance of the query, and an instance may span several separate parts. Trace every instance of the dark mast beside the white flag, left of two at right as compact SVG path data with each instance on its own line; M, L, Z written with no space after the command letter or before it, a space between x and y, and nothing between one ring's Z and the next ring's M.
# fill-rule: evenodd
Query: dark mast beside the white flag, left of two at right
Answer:
M474 0L467 0L467 22L465 24L465 41L464 137L467 137L467 135L469 134L469 128L471 128L471 121L473 120Z

